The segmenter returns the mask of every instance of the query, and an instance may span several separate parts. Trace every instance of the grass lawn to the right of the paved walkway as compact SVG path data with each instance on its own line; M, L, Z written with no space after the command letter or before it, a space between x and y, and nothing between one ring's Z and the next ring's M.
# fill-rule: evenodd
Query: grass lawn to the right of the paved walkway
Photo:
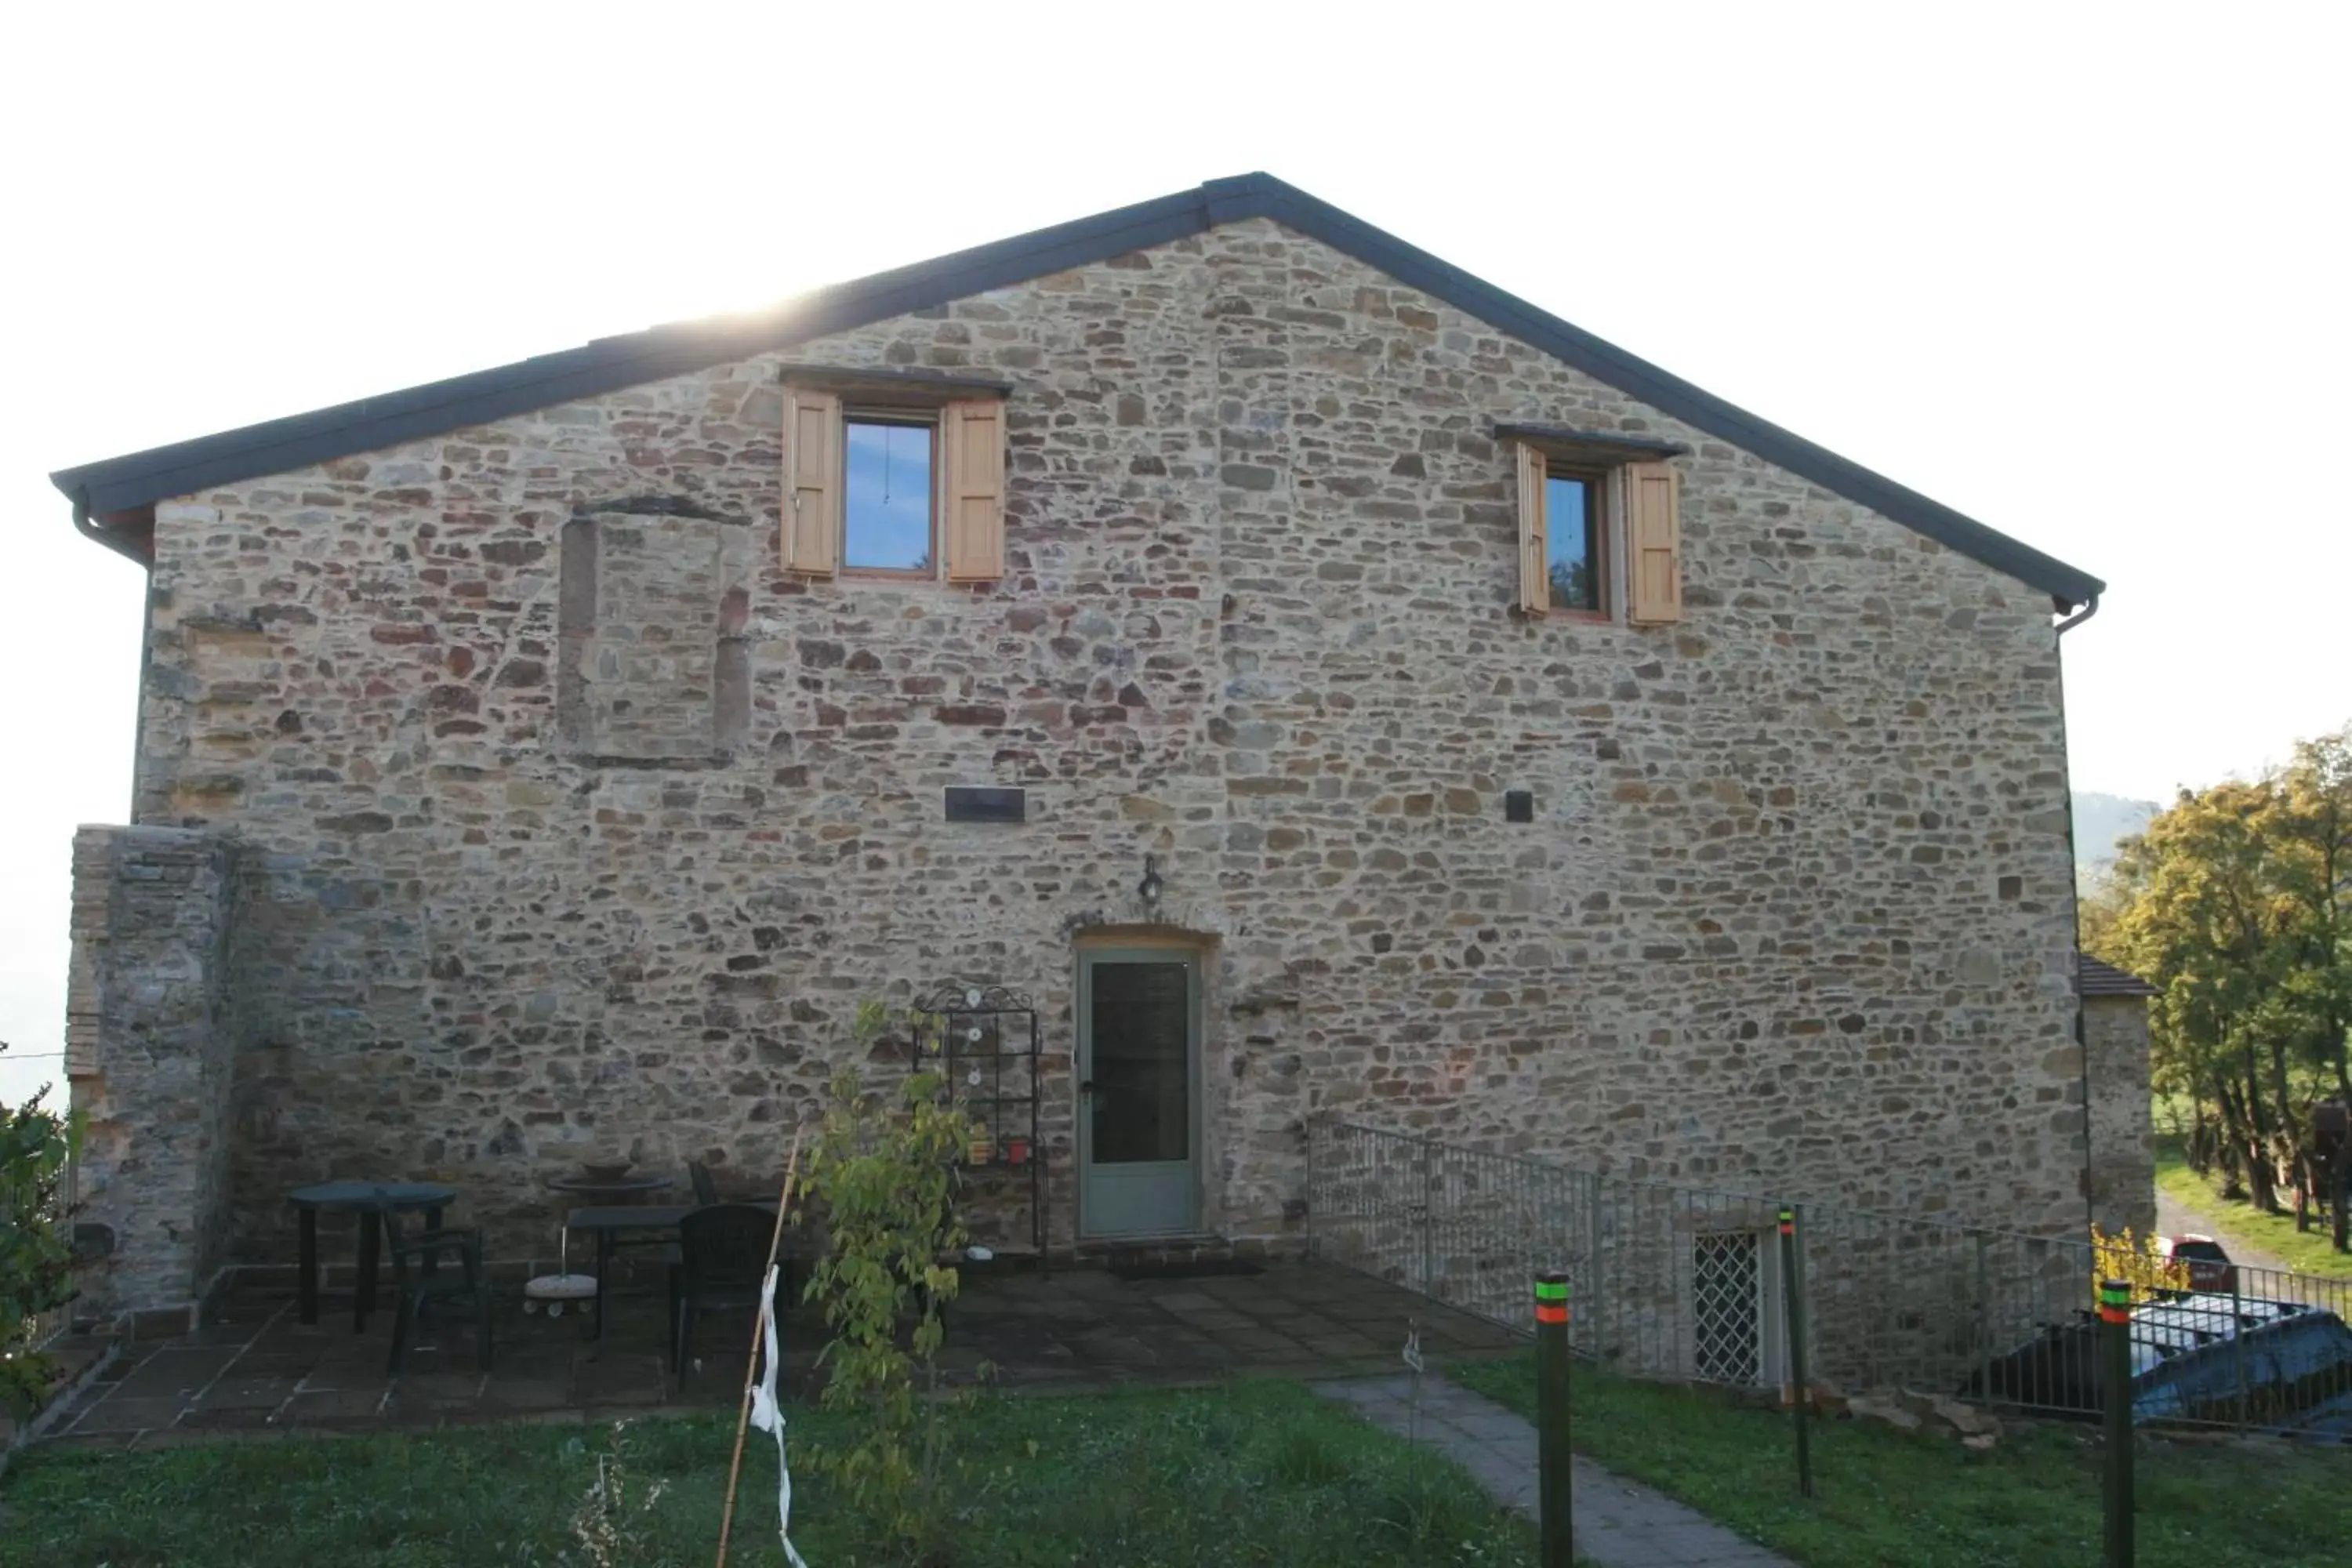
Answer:
M1451 1375L1534 1415L1534 1359ZM2096 1563L2100 1455L2089 1427L2011 1427L1990 1453L1856 1420L1813 1425L1813 1500L1797 1495L1788 1415L1700 1389L1576 1368L1578 1453L1809 1568ZM2140 1568L2340 1568L2352 1561L2352 1448L2180 1448L2136 1455Z

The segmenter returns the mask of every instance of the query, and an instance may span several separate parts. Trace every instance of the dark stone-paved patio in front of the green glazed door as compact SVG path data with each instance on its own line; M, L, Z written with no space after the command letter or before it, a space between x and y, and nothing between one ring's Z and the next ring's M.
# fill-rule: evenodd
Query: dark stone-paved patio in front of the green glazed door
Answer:
M473 1328L428 1328L397 1382L386 1378L390 1309L350 1326L350 1298L327 1293L320 1321L296 1321L292 1293L238 1293L221 1321L176 1340L132 1345L47 1441L68 1448L158 1448L282 1434L383 1432L492 1420L612 1420L656 1408L734 1406L750 1319L717 1312L696 1333L684 1387L663 1354L659 1291L616 1293L597 1354L581 1319L524 1316L506 1293L496 1359L475 1368ZM1120 1279L1103 1267L967 1276L948 1314L943 1363L969 1380L985 1361L1007 1389L1091 1389L1209 1382L1240 1375L1345 1378L1397 1366L1406 1321L1423 1352L1519 1349L1524 1340L1428 1298L1359 1274L1270 1262L1258 1274ZM814 1394L821 1321L786 1319L783 1385Z

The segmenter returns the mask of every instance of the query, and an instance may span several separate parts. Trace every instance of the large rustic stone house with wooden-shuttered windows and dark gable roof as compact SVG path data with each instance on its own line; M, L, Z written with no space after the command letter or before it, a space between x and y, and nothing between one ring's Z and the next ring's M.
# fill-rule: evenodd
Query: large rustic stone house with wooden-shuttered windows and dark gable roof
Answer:
M1054 1246L1296 1237L1310 1117L2084 1225L2098 578L1268 176L56 484L153 581L127 1305L303 1180L774 1171L943 980Z

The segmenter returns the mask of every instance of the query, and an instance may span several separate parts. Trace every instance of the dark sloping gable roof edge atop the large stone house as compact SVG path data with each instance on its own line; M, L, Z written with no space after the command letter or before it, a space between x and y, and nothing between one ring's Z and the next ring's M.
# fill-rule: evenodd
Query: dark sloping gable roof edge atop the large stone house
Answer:
M1197 190L1178 190L1152 202L1120 207L1075 223L1040 228L1011 240L955 252L934 261L875 273L816 289L771 310L720 322L682 322L597 339L583 348L536 355L517 364L412 386L381 397L362 397L292 418L273 418L242 430L223 430L193 442L153 447L101 463L61 468L49 480L75 503L78 515L125 512L212 484L230 484L292 468L308 468L355 451L372 451L508 414L595 397L626 386L661 381L684 371L790 348L851 327L866 327L953 299L1028 282L1047 273L1110 261L1127 252L1167 244L1221 223L1272 219L1310 240L1355 256L1402 284L1446 301L1588 376L1637 397L1653 409L1717 435L1766 463L1856 501L1907 529L2049 592L2065 607L2084 604L2105 583L2079 567L1987 529L1915 489L1896 484L1860 463L1757 418L1745 409L1639 360L1557 315L1479 282L1470 273L1355 219L1272 174L1211 179Z

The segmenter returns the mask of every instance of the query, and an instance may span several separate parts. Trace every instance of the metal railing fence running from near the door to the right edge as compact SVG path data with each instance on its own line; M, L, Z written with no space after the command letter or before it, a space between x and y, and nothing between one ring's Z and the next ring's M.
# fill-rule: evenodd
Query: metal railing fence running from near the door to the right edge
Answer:
M1348 1121L1308 1143L1312 1251L1463 1312L1529 1326L1529 1279L1566 1269L1578 1354L1644 1378L1778 1387L1802 1302L1809 1375L2056 1413L2098 1408L2086 1239L1705 1192L1571 1171ZM2190 1281L2176 1279L2187 1286ZM2352 1284L2267 1269L2143 1293L2143 1418L2343 1422Z

